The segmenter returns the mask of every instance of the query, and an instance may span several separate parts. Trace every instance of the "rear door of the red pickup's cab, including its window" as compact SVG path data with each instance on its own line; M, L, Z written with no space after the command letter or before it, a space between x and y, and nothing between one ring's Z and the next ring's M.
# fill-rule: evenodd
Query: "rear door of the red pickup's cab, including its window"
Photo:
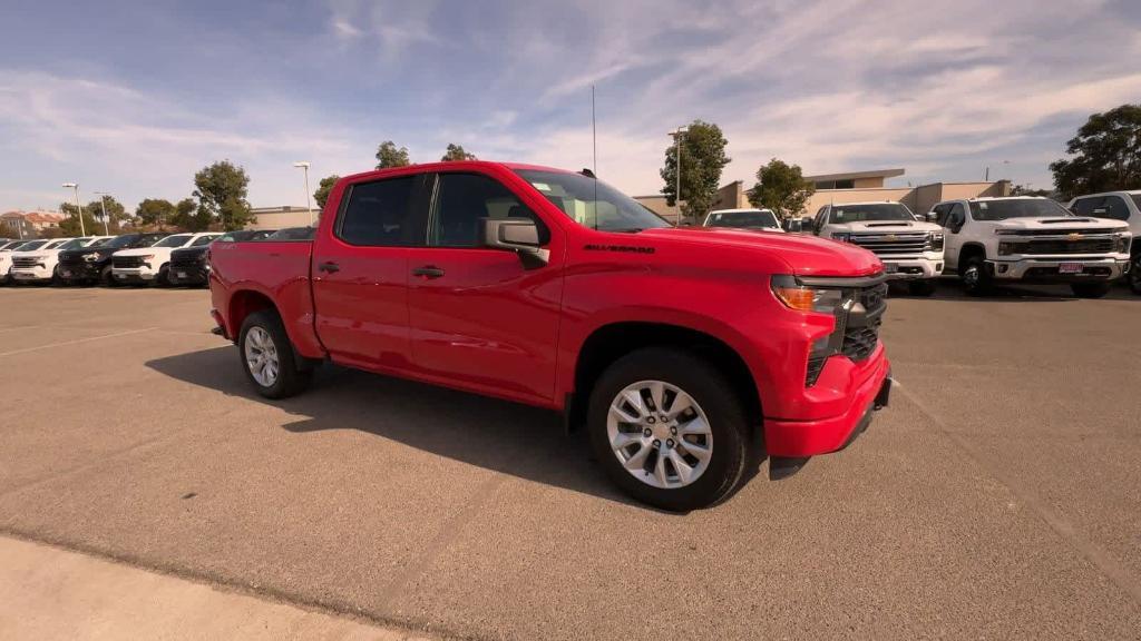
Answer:
M423 175L346 187L330 233L313 243L314 324L334 362L369 370L410 365L408 248L422 243Z

